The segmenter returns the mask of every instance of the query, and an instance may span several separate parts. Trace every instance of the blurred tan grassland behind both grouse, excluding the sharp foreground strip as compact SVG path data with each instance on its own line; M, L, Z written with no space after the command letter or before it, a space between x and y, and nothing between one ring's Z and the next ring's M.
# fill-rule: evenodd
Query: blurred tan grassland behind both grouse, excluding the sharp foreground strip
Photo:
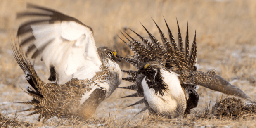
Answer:
M136 37L127 30L130 28L148 38L141 22L160 41L159 31L152 19L167 36L165 18L174 38L178 40L177 18L183 40L185 40L187 23L190 44L195 30L197 32L199 71L217 69L218 75L244 90L253 99L256 98L255 0L0 0L0 109L2 112L12 115L16 109L27 108L29 106L13 102L27 101L31 98L21 90L28 83L12 56L9 45L19 24L22 23L22 20L15 20L15 14L25 10L26 3L55 9L77 18L93 29L97 47L112 47L116 49L117 54L124 57L132 55L132 52L117 37L118 35L123 38L120 31L127 31ZM137 37L136 39L139 40ZM121 66L123 69L134 69L125 62ZM43 64L36 61L35 68L39 76L47 81L49 73ZM123 82L120 86L130 84ZM210 100L213 104L222 96L220 92L203 87L197 92L200 99L195 111L204 108ZM117 117L134 116L138 112L138 107L142 109L143 105L121 109L136 102L137 99L117 99L131 93L133 92L117 89L110 98L102 102L96 115L111 113L116 114ZM33 119L36 118L28 120Z

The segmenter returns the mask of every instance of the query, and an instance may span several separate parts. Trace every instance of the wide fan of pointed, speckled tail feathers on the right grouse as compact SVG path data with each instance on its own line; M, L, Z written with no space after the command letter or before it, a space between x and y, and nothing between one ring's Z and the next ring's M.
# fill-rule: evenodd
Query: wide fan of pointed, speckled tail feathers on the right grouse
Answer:
M164 19L164 21L166 23L165 19ZM156 24L155 21L154 21L154 23ZM164 33L161 31L159 26L156 24L156 27L159 30L159 33L160 33L160 36L161 36L164 46L151 33L149 33L149 31L147 31L147 29L143 25L142 26L145 29L145 31L147 31L152 43L131 29L130 29L131 31L133 31L137 36L139 36L139 38L142 40L142 42L144 44L135 40L134 38L132 38L130 35L128 35L126 33L133 41L129 40L122 33L123 36L126 38L126 40L128 40L128 43L125 42L124 40L123 40L123 42L126 43L126 45L128 45L128 47L130 47L130 49L134 52L135 55L133 58L122 57L121 59L132 64L137 69L139 69L145 62L160 61L160 63L165 65L168 69L171 69L173 66L175 66L175 68L177 68L176 69L177 71L184 71L184 70L196 71L197 70L197 67L196 67L196 65L197 65L196 33L194 34L192 49L190 51L189 50L189 40L188 40L189 39L188 24L187 24L187 31L186 31L186 38L185 38L185 47L183 47L183 41L182 41L182 37L181 37L181 33L180 33L180 27L178 24L178 20L177 20L177 25L178 25L178 45L175 42L175 39L173 38L173 35L172 35L171 30L167 23L166 23L166 27L168 29L170 41L166 38ZM136 82L137 71L125 71L125 70L122 70L122 71L131 76L131 77L123 78L123 80L133 82L133 83ZM191 85L191 86L194 86L194 85ZM121 88L130 89L130 90L138 90L136 84L128 86L128 87L121 87ZM139 93L135 93L135 94L139 94ZM133 94L133 95L128 95L126 97L136 97L136 96L134 96L134 94ZM122 97L122 98L124 98L124 97ZM140 101L138 101L138 102L140 103ZM131 104L128 107L136 105L138 102ZM187 101L187 102L189 102L189 101ZM194 105L194 107L196 107L196 106L197 106L197 104ZM192 107L192 108L194 108L194 107ZM187 109L192 109L192 108L187 108ZM149 108L145 108L145 110L147 110L147 109L149 109ZM189 110L186 110L186 111L189 111Z

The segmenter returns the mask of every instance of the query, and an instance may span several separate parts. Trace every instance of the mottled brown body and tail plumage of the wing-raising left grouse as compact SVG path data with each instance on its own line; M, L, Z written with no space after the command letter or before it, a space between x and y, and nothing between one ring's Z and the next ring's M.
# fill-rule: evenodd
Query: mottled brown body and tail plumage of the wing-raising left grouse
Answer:
M80 104L82 96L88 93L92 86L98 86L99 81L106 81L106 77L108 80L116 78L115 73L109 72L107 67L102 66L103 71L90 80L72 79L64 85L45 83L38 77L30 60L23 55L21 48L14 44L12 50L14 58L26 74L25 77L32 87L26 87L26 89L33 100L19 103L34 105L34 108L23 111L34 111L28 116L40 114L38 121L42 118L47 121L53 116L60 118L92 116L97 106L105 99L106 88L94 90L90 97Z

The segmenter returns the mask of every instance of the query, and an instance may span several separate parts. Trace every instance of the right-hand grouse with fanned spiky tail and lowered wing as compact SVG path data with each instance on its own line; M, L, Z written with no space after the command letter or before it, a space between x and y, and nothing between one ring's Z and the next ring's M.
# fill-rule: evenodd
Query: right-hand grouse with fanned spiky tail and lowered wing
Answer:
M132 64L139 70L123 71L131 76L123 78L123 80L133 82L134 84L120 88L137 91L126 97L143 97L143 99L128 107L145 103L146 107L140 112L149 109L154 114L161 114L168 118L175 118L181 115L187 116L187 114L190 114L190 109L197 107L199 100L199 96L195 90L197 85L225 94L239 96L244 99L250 98L241 89L216 75L215 70L208 72L197 71L196 33L190 52L188 28L184 48L179 25L178 45L167 23L166 26L170 41L164 36L159 26L157 26L163 44L152 36L144 26L152 42L134 31L144 44L126 33L131 38L130 40L122 33L128 40L128 42L124 40L123 42L130 47L134 55L131 58L121 57L121 59Z

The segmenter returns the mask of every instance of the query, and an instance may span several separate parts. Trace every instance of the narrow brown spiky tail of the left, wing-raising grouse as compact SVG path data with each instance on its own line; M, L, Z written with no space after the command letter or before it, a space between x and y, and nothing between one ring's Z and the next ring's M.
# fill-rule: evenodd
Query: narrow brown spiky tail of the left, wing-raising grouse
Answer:
M27 57L25 57L24 53L21 50L21 47L18 44L16 44L15 41L14 41L14 43L11 44L11 47L12 47L12 53L13 53L14 58L16 59L17 63L19 64L19 66L21 67L23 72L25 73L25 78L32 87L31 88L29 86L26 86L26 90L27 90L26 93L28 93L28 95L32 96L33 100L28 101L28 102L17 102L17 103L31 104L31 105L35 106L34 108L31 108L31 109L22 110L22 111L34 111L34 112L28 114L27 116L31 116L34 114L42 115L43 111L44 111L44 107L40 104L40 101L43 99L43 95L42 95L42 92L40 91L41 89L39 87L38 82L43 83L43 81L41 81L40 78L38 77L38 75L36 74L36 71L35 71L33 65L31 64L29 59L27 59ZM22 112L22 111L20 111L20 112ZM40 121L41 117L45 117L45 116L39 116L38 121Z

